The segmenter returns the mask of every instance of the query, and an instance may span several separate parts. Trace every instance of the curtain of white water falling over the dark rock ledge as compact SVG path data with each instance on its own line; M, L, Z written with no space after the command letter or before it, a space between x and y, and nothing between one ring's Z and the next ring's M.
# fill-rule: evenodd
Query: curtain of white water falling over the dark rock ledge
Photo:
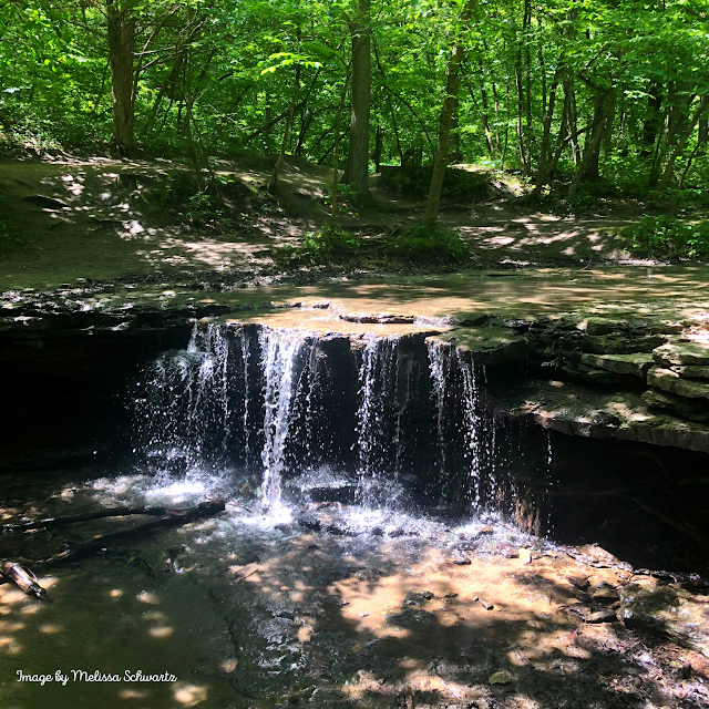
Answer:
M339 475L369 507L405 486L423 504L481 511L510 492L483 376L435 339L199 322L185 350L150 368L136 449L157 472L208 469L253 489L258 471L264 512L304 473L315 485Z

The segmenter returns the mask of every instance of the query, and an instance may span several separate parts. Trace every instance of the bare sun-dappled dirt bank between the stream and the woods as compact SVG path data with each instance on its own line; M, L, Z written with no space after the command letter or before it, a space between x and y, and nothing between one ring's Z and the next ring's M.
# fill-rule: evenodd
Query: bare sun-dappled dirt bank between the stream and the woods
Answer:
M0 250L0 291L48 289L78 279L266 282L282 276L274 249L297 246L327 218L331 169L290 160L277 197L266 194L270 162L212 165L218 197L189 199L194 171L167 160L62 158L0 162L10 248ZM475 268L580 266L629 259L619 228L637 205L597 205L588 216L543 214L520 205L513 177L490 173L489 196L443 203ZM502 182L501 182L502 179ZM423 202L389 192L371 176L374 206L343 209L339 224L362 234L415 224ZM312 279L312 274L300 274ZM295 280L298 280L296 275Z

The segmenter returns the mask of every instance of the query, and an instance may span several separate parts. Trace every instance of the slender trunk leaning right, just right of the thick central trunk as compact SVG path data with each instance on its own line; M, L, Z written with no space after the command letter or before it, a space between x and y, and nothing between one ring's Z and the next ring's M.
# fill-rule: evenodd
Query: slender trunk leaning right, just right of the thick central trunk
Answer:
M470 22L475 12L476 0L467 0L461 21L463 27ZM448 166L448 148L451 137L451 126L453 115L458 107L458 94L461 86L461 63L463 61L463 43L460 39L453 44L451 58L445 70L445 99L441 107L439 119L439 142L433 156L433 174L431 175L431 186L429 187L429 198L425 203L423 224L432 227L439 218L439 207L441 205L441 192L443 191L443 179L445 167Z

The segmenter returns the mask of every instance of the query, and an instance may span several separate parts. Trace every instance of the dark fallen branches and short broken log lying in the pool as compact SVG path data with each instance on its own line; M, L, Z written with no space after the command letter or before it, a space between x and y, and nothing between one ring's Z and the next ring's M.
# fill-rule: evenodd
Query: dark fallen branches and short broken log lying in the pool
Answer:
M85 522L89 520L99 520L101 517L107 516L124 516L127 514L160 515L157 520L145 522L127 530L119 530L117 532L110 532L109 534L101 534L99 536L95 536L93 540L90 540L84 544L80 544L79 546L64 552L63 554L58 554L56 556L52 556L40 562L23 561L23 564L31 563L32 566L38 571L55 568L56 566L76 562L81 558L85 558L86 556L91 556L92 554L101 551L102 548L105 548L106 546L113 544L114 542L117 542L119 540L129 540L141 536L142 534L146 534L147 532L152 532L153 530L179 526L189 522L194 522L195 520L210 517L215 514L219 514L219 512L224 512L225 507L226 505L224 504L224 501L217 500L215 502L203 502L196 507L189 507L188 510L167 510L164 507L142 507L131 510L127 507L113 507L112 510L103 510L99 513L86 513L83 515L71 515L66 517L53 517L52 520L54 524L70 524L73 522ZM119 513L116 512L116 510L121 510L122 512ZM113 512L113 514L106 514L110 512ZM58 522L59 520L61 520L61 522ZM41 520L39 522L48 521ZM32 525L34 523L29 524ZM17 526L22 527L22 525ZM41 526L41 524L37 524L34 527L25 528L37 528L37 526ZM19 563L3 562L0 565L0 573L2 576L0 578L0 584L12 582L28 595L45 597L47 592L38 584L34 574L32 574L32 572L30 572Z

